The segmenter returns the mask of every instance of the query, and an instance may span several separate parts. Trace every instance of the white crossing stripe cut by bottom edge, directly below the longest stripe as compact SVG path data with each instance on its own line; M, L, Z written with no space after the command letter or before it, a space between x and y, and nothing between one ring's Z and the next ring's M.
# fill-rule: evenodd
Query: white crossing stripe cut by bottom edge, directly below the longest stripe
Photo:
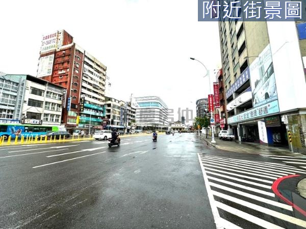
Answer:
M220 209L226 211L226 212L230 212L230 213L233 214L233 215L237 215L238 217L241 217L241 218L243 218L243 219L245 219L245 220L248 220L248 221L250 221L250 222L252 222L252 223L254 223L254 224L257 224L257 225L259 225L259 226L262 226L262 227L264 227L264 228L284 229L284 227L277 226L277 225L275 225L275 224L273 224L273 223L270 223L270 222L268 222L268 221L266 221L266 220L263 220L263 219L258 218L258 217L256 217L256 216L253 216L253 215L250 215L250 214L248 214L248 213L246 213L246 212L243 212L243 211L240 211L240 210L238 210L238 209L236 209L236 208L227 206L227 205L222 204L222 203L220 203L220 202L218 202L218 201L216 201L216 206L217 206L218 208L220 208Z

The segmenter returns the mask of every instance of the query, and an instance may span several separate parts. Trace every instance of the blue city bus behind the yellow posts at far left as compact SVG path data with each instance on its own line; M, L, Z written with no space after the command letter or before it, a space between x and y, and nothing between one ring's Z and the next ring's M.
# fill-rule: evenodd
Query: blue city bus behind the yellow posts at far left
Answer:
M58 126L43 126L32 124L19 124L19 123L1 123L0 124L0 137L7 139L9 136L15 138L16 136L41 136L50 131L58 131Z

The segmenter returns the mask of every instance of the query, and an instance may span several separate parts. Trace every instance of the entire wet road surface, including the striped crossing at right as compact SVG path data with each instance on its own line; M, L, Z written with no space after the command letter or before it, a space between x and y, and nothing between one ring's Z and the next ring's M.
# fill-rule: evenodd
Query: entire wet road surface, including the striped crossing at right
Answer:
M107 143L1 147L0 228L306 227L271 189L305 176L303 157L226 152L193 133ZM280 191L305 208L287 181Z

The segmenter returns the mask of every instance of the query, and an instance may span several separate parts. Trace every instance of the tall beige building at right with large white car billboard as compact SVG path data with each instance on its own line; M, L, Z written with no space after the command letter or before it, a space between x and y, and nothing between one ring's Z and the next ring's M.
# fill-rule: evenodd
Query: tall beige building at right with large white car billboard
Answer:
M243 18L244 6L237 7ZM289 146L291 131L293 150L306 152L304 27L294 21L219 22L228 130L237 139Z

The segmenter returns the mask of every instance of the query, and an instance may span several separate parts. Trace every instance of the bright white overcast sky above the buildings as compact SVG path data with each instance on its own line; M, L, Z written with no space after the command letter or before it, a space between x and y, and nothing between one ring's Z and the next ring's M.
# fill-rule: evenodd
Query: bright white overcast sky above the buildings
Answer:
M197 21L197 0L1 1L0 71L36 76L41 39L66 30L107 66L112 96L160 96L194 110L220 66L218 24ZM212 74L211 81L215 80Z

